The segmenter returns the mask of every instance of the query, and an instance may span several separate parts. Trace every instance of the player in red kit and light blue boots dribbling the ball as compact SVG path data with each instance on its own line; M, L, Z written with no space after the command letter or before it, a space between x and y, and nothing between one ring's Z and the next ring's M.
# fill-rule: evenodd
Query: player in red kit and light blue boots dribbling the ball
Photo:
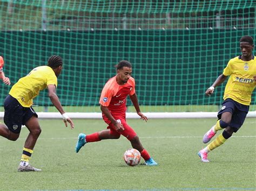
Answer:
M140 143L136 132L126 123L126 97L130 96L134 108L141 119L147 121L147 117L140 112L138 98L135 92L135 81L131 77L132 66L131 63L123 60L116 65L117 75L106 82L102 94L100 96L100 109L102 110L103 120L107 126L106 130L85 135L80 133L76 144L76 152L86 143L98 142L103 139L118 139L123 135L130 140L133 148L136 148L146 165L157 165L150 154Z

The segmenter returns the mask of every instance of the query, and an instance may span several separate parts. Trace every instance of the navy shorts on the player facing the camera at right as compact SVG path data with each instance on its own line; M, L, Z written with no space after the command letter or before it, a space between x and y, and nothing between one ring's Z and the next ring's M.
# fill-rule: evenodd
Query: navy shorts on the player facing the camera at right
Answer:
M224 112L230 112L232 114L230 127L234 130L234 132L237 132L244 123L248 111L249 105L244 105L232 100L231 98L227 98L222 103L222 107L218 112L218 118L221 119L221 114Z

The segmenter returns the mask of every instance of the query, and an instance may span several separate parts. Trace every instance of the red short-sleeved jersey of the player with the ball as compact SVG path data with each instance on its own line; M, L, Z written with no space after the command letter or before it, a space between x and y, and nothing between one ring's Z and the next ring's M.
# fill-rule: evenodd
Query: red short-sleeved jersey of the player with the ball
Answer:
M115 116L125 116L127 95L133 94L135 94L133 77L130 77L124 85L119 85L116 76L114 76L106 82L100 95L99 103L107 107L114 118ZM107 119L104 114L103 119Z

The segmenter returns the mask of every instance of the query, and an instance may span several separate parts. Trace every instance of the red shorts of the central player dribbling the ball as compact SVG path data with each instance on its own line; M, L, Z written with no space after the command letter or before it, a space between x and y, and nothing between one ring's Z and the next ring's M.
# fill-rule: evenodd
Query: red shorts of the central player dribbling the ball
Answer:
M116 117L115 117L116 118ZM133 139L137 134L136 132L126 123L125 118L116 118L116 120L120 119L121 124L124 126L124 131L118 132L112 123L109 123L109 120L104 120L109 126L107 129L110 129L110 133L114 135L123 135L128 140Z

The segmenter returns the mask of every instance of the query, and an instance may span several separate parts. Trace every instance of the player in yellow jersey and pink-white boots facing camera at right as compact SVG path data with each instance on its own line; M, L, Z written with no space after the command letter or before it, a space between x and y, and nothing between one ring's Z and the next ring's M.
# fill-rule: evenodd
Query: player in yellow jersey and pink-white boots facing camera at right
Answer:
M203 162L209 162L208 152L222 145L237 132L245 121L251 103L251 96L256 85L256 58L252 51L253 38L243 36L240 39L241 55L231 59L210 88L205 92L207 96L213 94L215 87L223 83L230 76L224 92L224 102L218 112L218 121L205 133L203 143L208 143L218 130L225 129L213 142L198 152Z

